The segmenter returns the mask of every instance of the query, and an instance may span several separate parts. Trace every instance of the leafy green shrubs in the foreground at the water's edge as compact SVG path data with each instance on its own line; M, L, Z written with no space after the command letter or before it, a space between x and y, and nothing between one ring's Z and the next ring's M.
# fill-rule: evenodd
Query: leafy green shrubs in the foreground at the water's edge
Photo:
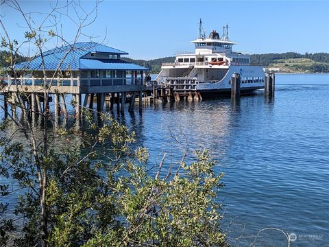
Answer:
M217 203L223 174L214 174L206 150L195 152L194 162L183 158L175 170L162 171L169 165L163 158L147 172L147 150L130 148L134 134L107 117L97 127L86 114L91 131L57 130L47 156L39 150L47 171L47 245L226 246ZM73 144L77 137L80 144ZM1 183L0 245L36 246L40 193L31 148L3 134L0 145L0 176L21 189L10 215L20 220L2 217L13 205L6 200L12 189Z

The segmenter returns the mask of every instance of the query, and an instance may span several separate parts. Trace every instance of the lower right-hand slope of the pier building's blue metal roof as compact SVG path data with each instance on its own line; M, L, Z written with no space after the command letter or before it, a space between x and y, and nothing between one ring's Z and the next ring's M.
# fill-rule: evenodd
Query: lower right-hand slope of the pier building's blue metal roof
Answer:
M149 70L119 59L80 59L80 69Z

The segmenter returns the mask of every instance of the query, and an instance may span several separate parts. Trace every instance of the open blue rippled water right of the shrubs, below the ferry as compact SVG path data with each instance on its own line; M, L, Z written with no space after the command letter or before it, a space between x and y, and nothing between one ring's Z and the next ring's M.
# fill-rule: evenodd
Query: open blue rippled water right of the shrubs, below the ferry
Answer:
M116 117L149 148L152 162L169 154L166 169L185 141L190 150L211 150L216 172L226 174L219 194L226 207L223 228L230 224L234 246L251 244L269 227L295 233L291 246L329 246L328 95L328 74L276 75L273 100L260 92L238 104L147 105L142 113ZM265 231L256 243L287 246L278 231Z

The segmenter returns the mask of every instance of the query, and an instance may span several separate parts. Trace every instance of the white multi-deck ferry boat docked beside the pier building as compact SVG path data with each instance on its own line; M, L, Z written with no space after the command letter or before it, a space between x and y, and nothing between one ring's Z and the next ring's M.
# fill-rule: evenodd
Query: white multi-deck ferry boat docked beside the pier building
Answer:
M263 67L251 66L249 54L232 51L236 43L230 41L228 25L223 27L219 36L216 30L206 38L202 20L199 21L199 35L191 41L194 52L177 52L175 62L163 63L156 78L158 83L176 84L174 91L196 91L202 97L216 97L230 94L231 78L239 73L241 94L264 89L265 73Z

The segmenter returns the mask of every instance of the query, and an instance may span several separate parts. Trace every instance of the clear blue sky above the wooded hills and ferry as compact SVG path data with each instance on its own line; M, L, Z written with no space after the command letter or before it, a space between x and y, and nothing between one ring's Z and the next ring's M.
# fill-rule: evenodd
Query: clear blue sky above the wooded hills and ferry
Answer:
M26 12L49 10L49 1L20 3ZM93 4L82 1L86 10ZM103 1L96 21L84 33L129 52L131 58L162 58L175 51L193 51L189 41L197 37L202 18L207 33L215 29L221 34L228 23L237 51L329 52L328 13L329 1ZM5 5L1 5L1 16L10 36L22 42L21 16ZM40 21L40 15L34 14L34 19ZM75 25L64 17L60 21L63 36L72 40ZM80 41L86 40L80 36ZM54 43L51 40L49 48ZM23 46L23 51L27 48Z

